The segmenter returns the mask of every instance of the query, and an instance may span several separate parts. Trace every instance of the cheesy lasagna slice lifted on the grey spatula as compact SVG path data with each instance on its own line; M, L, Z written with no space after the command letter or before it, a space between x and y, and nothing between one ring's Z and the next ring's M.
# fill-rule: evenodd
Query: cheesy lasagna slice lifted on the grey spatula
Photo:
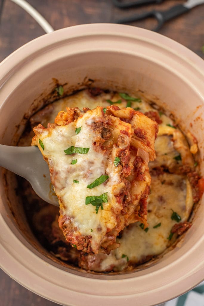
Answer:
M110 253L125 226L147 226L157 123L132 108L67 108L34 128L59 199L66 240L90 254Z

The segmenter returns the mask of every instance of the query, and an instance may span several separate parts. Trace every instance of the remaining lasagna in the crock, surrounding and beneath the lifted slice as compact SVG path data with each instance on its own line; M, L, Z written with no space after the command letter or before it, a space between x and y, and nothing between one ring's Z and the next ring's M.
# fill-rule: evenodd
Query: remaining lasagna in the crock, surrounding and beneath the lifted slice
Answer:
M76 245L73 247L73 244L67 242L59 227L59 208L40 199L32 190L31 185L18 177L18 194L21 194L28 223L39 243L47 250L47 256L51 256L52 259L63 265L78 267L89 272L94 271L94 273L132 271L138 265L141 267L143 263L149 265L158 260L162 254L172 248L172 245L177 243L177 238L191 227L192 216L204 189L204 179L199 174L199 152L196 138L188 132L184 134L171 114L145 98L140 92L125 94L89 88L58 99L30 118L19 145L30 145L34 136L32 129L38 124L47 127L49 122L54 122L61 110L64 113L67 112L66 107L78 107L82 110L84 107L94 109L97 106L107 108L111 105L121 109L131 107L144 113L158 124L158 136L155 140L156 158L148 164L151 174L147 199L148 222L145 223L145 215L142 220L125 226L116 237L118 248L112 249L110 254L101 252L90 254L78 250ZM112 114L108 115L112 116ZM113 116L115 117L116 113L113 113ZM128 119L120 118L120 120L127 122ZM135 136L138 136L138 133L137 135L134 133ZM44 143L44 140L41 140ZM135 145L139 146L139 144ZM67 147L68 145L64 147L64 150ZM140 148L146 151L144 147ZM148 153L150 155L150 152ZM69 156L66 155L68 158ZM78 158L72 157L71 160L73 159ZM122 167L121 164L118 166ZM98 177L101 174L105 173L101 172ZM73 179L77 180L76 177ZM93 178L93 181L94 179L96 177ZM125 179L129 181L128 177ZM105 186L107 181L103 184ZM90 191L93 190L94 188L90 189ZM104 189L100 194L104 192L107 190ZM87 207L93 209L95 217L104 211L100 207L96 214L96 207L91 204L88 204Z

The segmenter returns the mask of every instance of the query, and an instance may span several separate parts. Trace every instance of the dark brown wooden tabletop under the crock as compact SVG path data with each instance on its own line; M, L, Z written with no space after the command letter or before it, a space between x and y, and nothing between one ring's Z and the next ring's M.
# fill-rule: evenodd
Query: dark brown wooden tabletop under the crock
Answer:
M126 2L126 0L122 0ZM131 0L129 0L131 1ZM0 0L0 3L3 2ZM57 30L76 24L114 22L144 10L164 10L184 3L181 0L166 0L160 5L121 10L112 5L111 0L28 0L39 13ZM153 19L132 23L143 28L155 26ZM173 19L159 31L171 39L188 47L204 58L204 5ZM28 41L45 34L37 22L22 8L5 0L0 21L0 62L14 50ZM68 300L68 297L67 297ZM31 293L3 271L0 271L0 306L54 306L53 302Z

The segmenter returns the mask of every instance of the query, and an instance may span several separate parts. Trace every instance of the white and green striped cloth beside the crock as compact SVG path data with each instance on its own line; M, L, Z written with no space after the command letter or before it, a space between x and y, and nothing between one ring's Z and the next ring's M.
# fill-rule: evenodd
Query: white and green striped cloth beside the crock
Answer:
M180 297L158 306L204 306L204 282Z

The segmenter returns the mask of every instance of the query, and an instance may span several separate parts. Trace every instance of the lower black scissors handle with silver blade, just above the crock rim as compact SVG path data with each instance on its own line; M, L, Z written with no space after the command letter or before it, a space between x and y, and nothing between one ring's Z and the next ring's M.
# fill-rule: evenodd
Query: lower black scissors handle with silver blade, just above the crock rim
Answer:
M154 17L157 20L158 25L152 31L157 32L166 21L173 19L183 13L186 13L190 11L190 9L192 9L194 6L197 6L203 3L204 3L204 0L188 0L184 4L178 4L178 5L172 6L170 9L167 9L166 11L152 10L152 11L141 13L139 15L132 15L132 16L117 20L115 21L115 23L126 24L126 23L130 23L133 21L139 21L142 19L146 19L148 17Z

